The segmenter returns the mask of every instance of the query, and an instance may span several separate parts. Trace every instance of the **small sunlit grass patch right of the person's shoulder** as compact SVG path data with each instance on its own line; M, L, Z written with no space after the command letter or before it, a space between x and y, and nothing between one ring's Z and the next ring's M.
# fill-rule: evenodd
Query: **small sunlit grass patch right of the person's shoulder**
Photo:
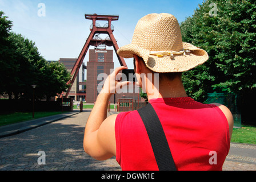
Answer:
M256 127L242 125L241 129L233 129L231 142L256 144Z

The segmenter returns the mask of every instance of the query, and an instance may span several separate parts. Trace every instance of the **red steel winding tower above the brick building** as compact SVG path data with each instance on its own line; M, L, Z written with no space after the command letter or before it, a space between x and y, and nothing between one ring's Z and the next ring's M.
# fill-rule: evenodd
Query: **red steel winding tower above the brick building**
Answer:
M90 26L90 35L86 40L85 46L83 46L83 49L71 71L71 80L69 80L67 82L67 85L71 84L71 86L74 83L75 78L77 77L79 68L81 67L82 63L83 63L83 59L85 58L85 55L89 49L90 46L95 46L98 47L101 44L104 44L106 46L113 46L115 49L115 53L117 53L117 50L119 49L118 45L117 45L117 41L114 38L113 35L113 31L114 31L114 27L111 24L112 21L118 20L119 16L116 15L97 15L97 14L93 14L93 15L87 15L85 14L85 18L86 19L90 19L93 20L93 24L91 24ZM108 23L106 23L103 27L101 27L98 23L96 23L96 20L104 20L107 21ZM97 38L98 35L96 34L107 34L109 35L105 40L102 39L95 39L95 37ZM123 59L123 57L120 57L117 54L119 63L121 64L121 66L126 66L125 60ZM69 89L67 89L66 92L66 98L69 96L69 92L71 89L71 86L69 87Z

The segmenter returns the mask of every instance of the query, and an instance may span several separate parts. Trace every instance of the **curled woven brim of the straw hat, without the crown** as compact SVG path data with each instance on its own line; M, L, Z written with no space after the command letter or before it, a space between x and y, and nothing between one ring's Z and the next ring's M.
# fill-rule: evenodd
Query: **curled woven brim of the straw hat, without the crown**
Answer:
M205 50L195 47L190 43L183 43L183 48L189 49L190 53L186 54L186 56L183 54L174 55L173 58L170 56L158 57L150 55L149 50L135 44L123 46L118 49L117 53L124 58L131 58L134 54L138 55L145 61L147 68L157 73L189 71L209 59Z

